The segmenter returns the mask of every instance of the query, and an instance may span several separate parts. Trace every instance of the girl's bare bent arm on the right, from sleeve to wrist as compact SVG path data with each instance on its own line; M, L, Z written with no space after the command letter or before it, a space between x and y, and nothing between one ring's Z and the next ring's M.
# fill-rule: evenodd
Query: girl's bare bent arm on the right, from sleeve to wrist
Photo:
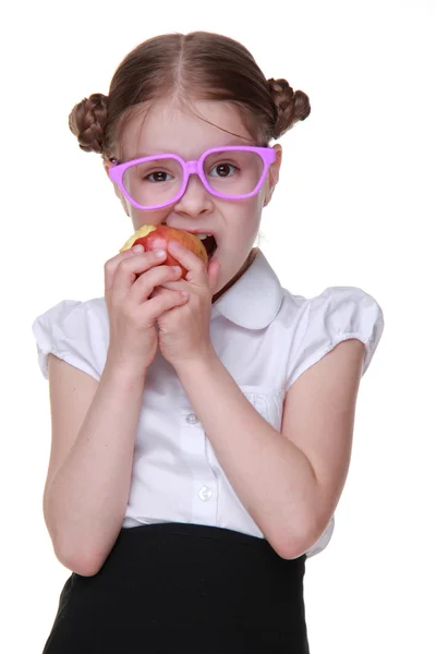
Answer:
M351 456L364 344L351 339L288 390L282 432L251 404L215 351L177 370L238 497L282 558L323 535Z

